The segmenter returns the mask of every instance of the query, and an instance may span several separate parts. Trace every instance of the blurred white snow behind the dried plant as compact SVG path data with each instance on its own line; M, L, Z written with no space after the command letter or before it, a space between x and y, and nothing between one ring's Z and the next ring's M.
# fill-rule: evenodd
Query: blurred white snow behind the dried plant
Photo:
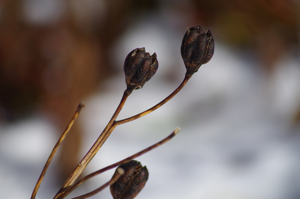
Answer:
M134 48L158 54L159 68L143 89L128 97L118 119L157 104L182 82L182 33L170 36L167 21L137 23L116 42L118 75L82 99L78 123L85 138L83 156L110 120L126 89L123 63ZM147 25L145 25L147 24ZM206 30L205 30L206 31ZM300 127L293 116L300 101L300 61L286 55L271 76L256 59L215 40L211 61L202 65L172 100L142 118L118 126L85 170L94 172L182 130L168 143L138 158L149 180L138 198L296 199L300 198ZM75 109L74 109L75 110ZM52 147L57 128L36 114L0 124L0 198L25 199ZM37 194L52 198L55 158ZM95 177L68 198L107 182L115 169ZM91 198L112 198L109 188Z

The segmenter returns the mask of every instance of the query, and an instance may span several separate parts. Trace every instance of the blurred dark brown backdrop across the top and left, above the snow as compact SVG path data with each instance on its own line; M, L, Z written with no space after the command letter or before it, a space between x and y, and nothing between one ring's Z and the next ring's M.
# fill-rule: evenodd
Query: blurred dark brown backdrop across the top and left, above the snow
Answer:
M62 132L78 102L113 76L113 43L141 16L164 12L164 7L185 17L178 26L204 26L213 30L215 40L250 49L267 74L281 56L299 53L300 9L293 0L57 2L61 13L39 21L26 17L31 12L26 5L39 4L38 0L0 1L2 122L40 112ZM62 180L81 158L82 136L75 123L62 145Z

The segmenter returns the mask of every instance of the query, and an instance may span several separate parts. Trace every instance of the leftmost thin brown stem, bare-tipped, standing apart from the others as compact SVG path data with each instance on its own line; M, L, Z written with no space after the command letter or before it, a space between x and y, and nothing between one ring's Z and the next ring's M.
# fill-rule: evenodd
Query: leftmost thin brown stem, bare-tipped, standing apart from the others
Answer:
M72 127L72 125L73 125L73 123L75 122L76 118L78 117L80 111L81 111L82 108L84 108L84 107L85 107L85 105L83 104L83 102L79 102L79 105L77 106L76 111L75 111L75 113L74 113L74 115L73 115L71 121L70 121L69 124L67 125L67 128L66 128L66 129L64 130L64 132L61 134L61 136L59 137L57 143L55 144L54 148L52 149L52 151L51 151L51 153L50 153L50 155L49 155L49 157L48 157L48 160L46 161L46 164L45 164L45 166L44 166L44 168L43 168L43 170L42 170L42 173L41 173L41 175L40 175L40 177L39 177L39 179L38 179L38 182L36 183L35 188L33 189L33 192L32 192L32 195L31 195L31 198L30 198L30 199L35 199L35 196L36 196L36 194L37 194L37 192L38 192L38 189L39 189L39 187L40 187L40 185L41 185L41 183L42 183L42 181L43 181L43 179L44 179L44 176L45 176L45 174L46 174L46 171L47 171L47 169L48 169L48 167L49 167L49 165L50 165L50 163L51 163L51 161L52 161L52 159L53 159L53 157L54 157L54 155L55 155L55 153L56 153L58 147L60 146L61 142L62 142L62 141L64 140L64 138L66 137L67 133L70 131L70 128Z

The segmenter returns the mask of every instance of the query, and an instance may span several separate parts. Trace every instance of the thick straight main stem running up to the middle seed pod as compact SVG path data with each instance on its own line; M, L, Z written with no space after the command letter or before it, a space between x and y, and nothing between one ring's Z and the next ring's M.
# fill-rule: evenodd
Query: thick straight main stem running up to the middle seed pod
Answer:
M76 179L79 177L79 175L82 173L82 171L85 169L85 167L88 165L88 163L92 160L92 158L96 155L96 153L99 151L105 140L108 136L106 134L110 134L114 128L116 128L115 121L118 117L122 107L125 104L125 101L129 94L124 91L123 97L121 99L121 102L116 109L115 113L113 114L113 117L110 119L109 123L105 127L105 129L102 131L94 145L91 147L91 149L88 151L88 153L83 157L83 159L80 161L80 163L76 166L72 174L68 177L68 179L65 181L61 189L57 192L57 194L54 196L53 199L58 198L66 189L66 187L71 186Z

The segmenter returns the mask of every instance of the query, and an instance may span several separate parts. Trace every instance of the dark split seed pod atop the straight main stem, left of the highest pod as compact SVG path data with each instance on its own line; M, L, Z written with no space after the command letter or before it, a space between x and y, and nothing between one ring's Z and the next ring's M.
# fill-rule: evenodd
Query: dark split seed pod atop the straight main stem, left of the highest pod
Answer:
M131 94L134 89L142 88L151 79L158 69L156 53L150 56L145 48L132 50L125 59L124 73L127 85L127 93Z

